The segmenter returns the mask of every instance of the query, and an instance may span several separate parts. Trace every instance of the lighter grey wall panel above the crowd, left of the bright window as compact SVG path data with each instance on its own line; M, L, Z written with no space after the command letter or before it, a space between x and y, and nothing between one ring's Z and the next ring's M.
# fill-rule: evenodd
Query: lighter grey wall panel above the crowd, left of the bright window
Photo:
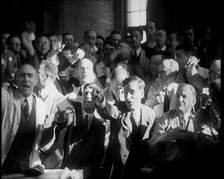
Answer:
M114 28L113 10L112 0L64 0L62 32L74 34L78 42L89 29L106 37Z

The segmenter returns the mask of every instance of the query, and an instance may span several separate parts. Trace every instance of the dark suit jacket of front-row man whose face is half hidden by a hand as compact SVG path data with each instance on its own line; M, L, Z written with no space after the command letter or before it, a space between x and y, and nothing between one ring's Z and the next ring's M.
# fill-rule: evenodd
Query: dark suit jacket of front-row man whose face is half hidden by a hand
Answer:
M84 179L96 178L104 155L105 127L102 122L93 118L88 131L85 132L80 111L76 111L76 114L76 126L69 126L65 134L62 168L83 169Z

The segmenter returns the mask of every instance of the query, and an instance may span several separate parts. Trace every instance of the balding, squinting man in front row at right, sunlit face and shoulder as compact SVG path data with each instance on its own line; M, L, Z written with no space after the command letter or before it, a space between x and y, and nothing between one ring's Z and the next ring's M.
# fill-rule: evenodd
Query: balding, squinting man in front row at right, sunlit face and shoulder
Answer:
M187 171L193 170L195 161L195 103L194 87L182 83L177 89L175 109L165 112L156 120L152 138L148 141L151 165L154 166L151 177L179 178L183 173L185 176L191 176L192 173Z

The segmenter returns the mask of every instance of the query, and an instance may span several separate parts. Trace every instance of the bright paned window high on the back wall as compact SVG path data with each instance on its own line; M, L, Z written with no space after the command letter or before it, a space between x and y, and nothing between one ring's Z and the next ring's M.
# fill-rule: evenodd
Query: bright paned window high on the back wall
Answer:
M146 25L146 7L148 0L127 0L127 26Z

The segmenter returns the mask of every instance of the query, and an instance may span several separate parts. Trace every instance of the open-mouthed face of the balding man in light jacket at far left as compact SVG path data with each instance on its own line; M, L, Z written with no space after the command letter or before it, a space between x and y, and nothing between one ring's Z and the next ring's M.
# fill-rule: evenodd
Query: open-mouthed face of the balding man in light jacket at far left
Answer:
M37 84L37 74L31 65L23 65L18 72L18 88L24 97L32 94L33 88Z

